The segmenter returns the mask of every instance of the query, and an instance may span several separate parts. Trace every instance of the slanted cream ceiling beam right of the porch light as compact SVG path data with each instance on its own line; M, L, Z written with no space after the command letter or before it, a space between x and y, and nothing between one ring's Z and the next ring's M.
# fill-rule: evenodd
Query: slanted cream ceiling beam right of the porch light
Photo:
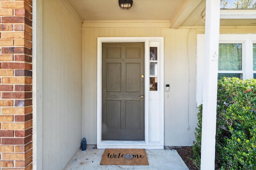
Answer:
M170 19L170 28L178 29L202 0L184 0Z

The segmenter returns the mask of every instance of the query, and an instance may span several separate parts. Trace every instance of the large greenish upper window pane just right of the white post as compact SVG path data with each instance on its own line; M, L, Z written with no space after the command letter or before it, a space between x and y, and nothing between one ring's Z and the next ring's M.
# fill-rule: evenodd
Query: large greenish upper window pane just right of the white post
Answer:
M220 43L218 70L242 70L242 44Z

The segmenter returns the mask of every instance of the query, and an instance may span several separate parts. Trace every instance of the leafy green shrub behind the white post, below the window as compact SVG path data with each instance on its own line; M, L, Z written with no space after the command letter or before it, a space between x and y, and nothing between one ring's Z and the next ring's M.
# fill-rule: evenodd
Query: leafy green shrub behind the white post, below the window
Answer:
M193 151L200 164L202 108ZM256 79L218 81L216 169L256 169Z

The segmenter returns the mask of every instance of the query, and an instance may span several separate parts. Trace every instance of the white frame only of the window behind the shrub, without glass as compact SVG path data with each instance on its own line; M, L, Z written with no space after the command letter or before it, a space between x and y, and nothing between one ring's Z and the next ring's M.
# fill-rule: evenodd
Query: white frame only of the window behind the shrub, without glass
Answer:
M197 75L196 75L196 106L203 102L203 63L204 63L204 34L197 35ZM253 48L256 34L220 34L219 43L242 43L242 71L218 71L218 73L242 73L243 79L253 78Z

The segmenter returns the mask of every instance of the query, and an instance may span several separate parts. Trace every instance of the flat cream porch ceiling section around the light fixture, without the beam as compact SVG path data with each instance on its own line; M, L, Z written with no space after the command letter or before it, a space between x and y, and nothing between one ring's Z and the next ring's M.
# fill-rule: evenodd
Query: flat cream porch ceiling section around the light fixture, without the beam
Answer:
M68 0L83 20L170 20L186 0L133 0L121 10L118 0Z

